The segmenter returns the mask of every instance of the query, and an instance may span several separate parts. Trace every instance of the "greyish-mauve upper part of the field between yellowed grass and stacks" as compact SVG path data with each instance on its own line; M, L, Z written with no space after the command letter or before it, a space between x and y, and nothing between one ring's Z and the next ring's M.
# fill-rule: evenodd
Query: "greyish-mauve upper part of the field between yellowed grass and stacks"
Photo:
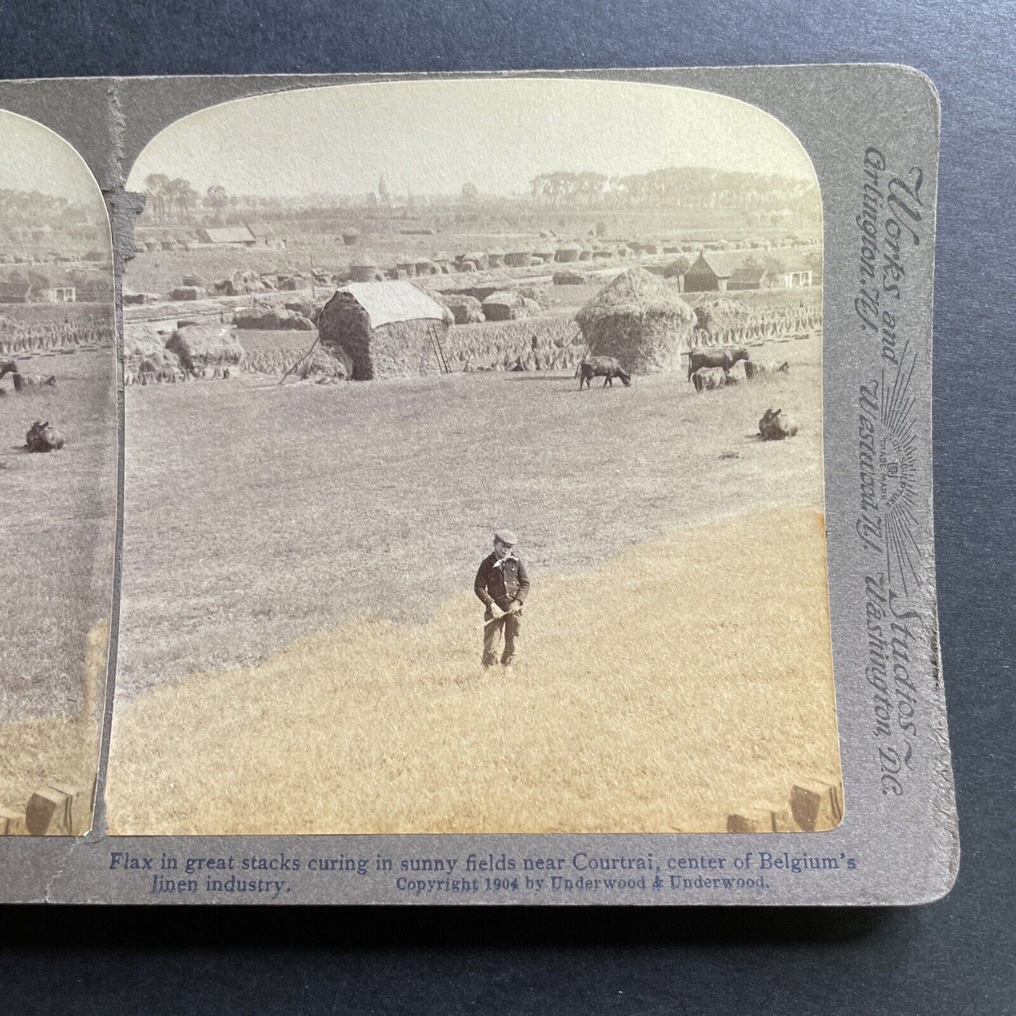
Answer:
M777 354L788 376L703 395L533 373L129 389L118 695L364 614L427 621L497 524L538 574L765 505L821 510L820 344L755 351ZM792 441L754 438L770 405Z

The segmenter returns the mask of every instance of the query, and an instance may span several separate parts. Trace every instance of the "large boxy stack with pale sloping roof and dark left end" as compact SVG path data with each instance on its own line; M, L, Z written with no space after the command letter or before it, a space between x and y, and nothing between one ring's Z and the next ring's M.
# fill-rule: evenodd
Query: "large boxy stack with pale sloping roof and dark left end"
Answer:
M318 333L325 348L348 357L353 380L440 374L436 341L454 318L407 281L351 282L325 304Z

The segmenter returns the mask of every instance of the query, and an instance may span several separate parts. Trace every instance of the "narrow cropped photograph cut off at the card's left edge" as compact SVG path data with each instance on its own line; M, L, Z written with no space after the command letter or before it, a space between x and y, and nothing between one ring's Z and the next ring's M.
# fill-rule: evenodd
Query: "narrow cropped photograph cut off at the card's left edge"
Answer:
M91 827L113 593L113 254L102 192L0 111L0 835Z

